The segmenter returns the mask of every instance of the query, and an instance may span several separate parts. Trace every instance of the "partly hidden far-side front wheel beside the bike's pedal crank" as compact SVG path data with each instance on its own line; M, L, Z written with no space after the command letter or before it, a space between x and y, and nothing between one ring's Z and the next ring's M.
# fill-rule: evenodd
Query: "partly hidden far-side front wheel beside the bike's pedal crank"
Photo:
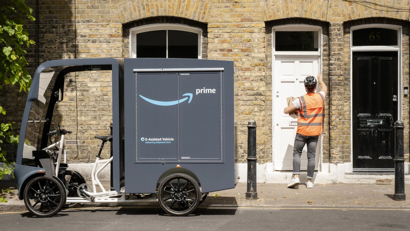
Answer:
M71 170L66 170L63 176L61 177L59 176L59 178L63 181L64 186L68 191L67 197L78 197L77 187L75 186L86 183L84 181L84 178L78 177L77 174L79 173L71 171ZM64 204L63 208L76 208L80 204L81 203L68 203L68 204Z

